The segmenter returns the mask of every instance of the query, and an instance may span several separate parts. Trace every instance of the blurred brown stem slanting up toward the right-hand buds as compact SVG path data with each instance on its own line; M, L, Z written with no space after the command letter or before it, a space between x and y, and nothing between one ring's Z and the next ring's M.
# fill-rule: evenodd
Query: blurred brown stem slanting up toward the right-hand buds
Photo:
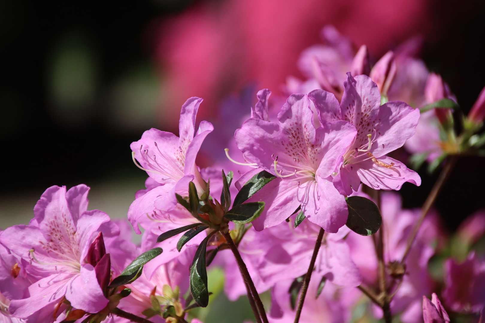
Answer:
M407 245L406 245L406 250L404 251L403 259L401 260L401 263L404 263L406 260L409 251L411 250L411 246L414 243L414 240L416 239L416 235L418 234L418 231L420 230L420 226L428 214L429 209L431 206L433 206L433 203L436 200L436 197L439 194L439 191L445 184L446 180L450 176L451 170L453 169L454 164L456 163L456 160L458 159L458 156L453 155L451 156L450 159L448 159L445 167L441 170L441 173L439 174L438 179L436 180L435 185L431 189L431 192L429 193L428 197L426 198L426 201L424 201L424 204L421 208L421 214L420 217L418 218L418 221L414 225L413 231L411 231L411 234L409 235L409 238L407 239Z

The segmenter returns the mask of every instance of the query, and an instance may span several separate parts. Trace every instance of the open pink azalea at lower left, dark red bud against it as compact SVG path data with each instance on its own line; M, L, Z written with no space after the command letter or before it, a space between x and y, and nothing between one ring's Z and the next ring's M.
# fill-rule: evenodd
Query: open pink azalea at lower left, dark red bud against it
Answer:
M33 316L37 322L49 322L55 306L64 299L89 313L108 303L102 287L107 285L111 268L98 234L102 232L110 240L119 231L105 213L86 211L88 191L86 185L67 192L65 186L49 187L35 205L29 225L16 225L1 233L1 244L22 263L30 263L24 268L40 277L29 286L25 298L11 301L15 317Z

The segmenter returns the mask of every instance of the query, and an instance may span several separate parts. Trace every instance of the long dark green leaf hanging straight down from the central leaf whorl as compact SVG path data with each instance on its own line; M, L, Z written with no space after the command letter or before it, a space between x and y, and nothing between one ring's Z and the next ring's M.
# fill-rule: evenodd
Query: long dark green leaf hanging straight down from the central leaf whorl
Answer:
M207 236L195 251L194 260L190 266L190 292L200 307L209 304L209 291L207 289L206 248L211 236Z

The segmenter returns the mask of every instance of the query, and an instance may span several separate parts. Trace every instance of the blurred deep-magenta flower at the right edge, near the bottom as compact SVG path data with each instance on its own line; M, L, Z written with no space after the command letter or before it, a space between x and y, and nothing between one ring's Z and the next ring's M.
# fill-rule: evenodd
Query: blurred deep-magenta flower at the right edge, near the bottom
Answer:
M470 252L463 263L449 259L444 264L443 298L455 312L478 312L485 303L485 261Z

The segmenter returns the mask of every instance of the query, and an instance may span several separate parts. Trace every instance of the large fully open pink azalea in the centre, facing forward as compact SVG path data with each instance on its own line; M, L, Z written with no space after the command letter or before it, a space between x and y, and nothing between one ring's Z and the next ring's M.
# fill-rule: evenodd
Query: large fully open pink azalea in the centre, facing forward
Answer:
M251 198L266 202L263 214L253 222L255 229L275 226L301 206L309 221L337 232L348 211L331 174L355 138L355 127L344 121L314 124L305 94L292 94L278 121L251 118L235 135L248 160L277 176Z

